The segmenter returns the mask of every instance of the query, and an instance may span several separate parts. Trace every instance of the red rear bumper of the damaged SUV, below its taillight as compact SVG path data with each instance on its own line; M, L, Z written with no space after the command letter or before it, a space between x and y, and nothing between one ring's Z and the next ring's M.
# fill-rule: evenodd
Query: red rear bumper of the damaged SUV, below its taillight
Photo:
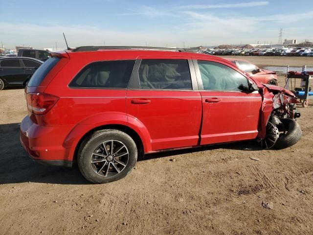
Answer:
M63 131L60 131L62 130ZM39 126L26 116L20 128L20 141L28 156L41 164L72 166L67 149L63 147L64 126Z

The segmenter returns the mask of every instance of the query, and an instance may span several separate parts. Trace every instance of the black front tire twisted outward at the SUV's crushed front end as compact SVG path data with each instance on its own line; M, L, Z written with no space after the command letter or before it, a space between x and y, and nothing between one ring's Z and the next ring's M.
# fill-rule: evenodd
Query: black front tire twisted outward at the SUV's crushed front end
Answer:
M280 134L279 139L276 141L274 148L283 149L292 146L298 142L302 137L301 128L294 119L284 118L281 119L284 124L286 132L285 134Z

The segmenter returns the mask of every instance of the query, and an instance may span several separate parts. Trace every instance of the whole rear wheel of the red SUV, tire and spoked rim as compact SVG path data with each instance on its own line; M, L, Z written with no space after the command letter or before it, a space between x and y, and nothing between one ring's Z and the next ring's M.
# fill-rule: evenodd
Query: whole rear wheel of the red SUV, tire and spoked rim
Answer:
M89 182L103 184L127 176L136 164L137 155L137 146L129 135L108 129L96 131L82 142L77 162Z

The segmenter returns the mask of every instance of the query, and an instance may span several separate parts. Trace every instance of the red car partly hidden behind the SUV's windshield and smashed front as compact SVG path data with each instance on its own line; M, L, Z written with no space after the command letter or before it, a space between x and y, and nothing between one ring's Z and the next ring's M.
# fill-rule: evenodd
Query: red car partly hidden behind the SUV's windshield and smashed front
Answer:
M270 70L262 70L256 65L251 64L249 61L237 58L224 58L235 64L239 69L248 73L251 77L261 83L278 85L276 72Z

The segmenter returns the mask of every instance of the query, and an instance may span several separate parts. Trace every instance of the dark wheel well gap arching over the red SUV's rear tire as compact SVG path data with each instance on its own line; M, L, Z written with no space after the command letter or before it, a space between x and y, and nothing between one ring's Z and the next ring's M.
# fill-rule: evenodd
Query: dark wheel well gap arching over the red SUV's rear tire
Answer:
M130 137L132 137L132 139L135 141L136 146L137 146L137 151L138 151L138 159L142 158L144 156L144 150L143 150L143 143L139 137L139 135L130 127L128 126L124 126L124 125L115 125L115 124L111 124L111 125L103 125L103 126L98 126L95 127L93 129L91 129L89 132L87 132L77 143L76 147L75 147L75 151L74 151L74 156L73 156L73 161L76 161L77 159L77 152L79 150L79 147L81 145L81 143L88 138L92 133L94 133L95 131L99 131L99 130L105 130L105 129L114 129L114 130L119 130L122 132L125 132L126 134L128 134Z

